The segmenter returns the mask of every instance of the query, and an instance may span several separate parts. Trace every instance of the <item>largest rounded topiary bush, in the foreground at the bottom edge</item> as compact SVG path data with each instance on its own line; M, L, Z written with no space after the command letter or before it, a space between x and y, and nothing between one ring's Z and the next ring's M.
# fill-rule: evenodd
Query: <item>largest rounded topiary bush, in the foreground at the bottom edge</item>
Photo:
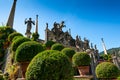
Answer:
M72 65L59 51L43 51L29 64L26 80L73 80Z

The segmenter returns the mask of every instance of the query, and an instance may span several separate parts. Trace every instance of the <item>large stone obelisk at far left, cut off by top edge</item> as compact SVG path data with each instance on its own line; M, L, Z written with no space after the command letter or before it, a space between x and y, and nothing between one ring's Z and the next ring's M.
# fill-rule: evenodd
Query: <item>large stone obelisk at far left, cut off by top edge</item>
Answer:
M13 28L15 8L17 0L14 0L6 26Z

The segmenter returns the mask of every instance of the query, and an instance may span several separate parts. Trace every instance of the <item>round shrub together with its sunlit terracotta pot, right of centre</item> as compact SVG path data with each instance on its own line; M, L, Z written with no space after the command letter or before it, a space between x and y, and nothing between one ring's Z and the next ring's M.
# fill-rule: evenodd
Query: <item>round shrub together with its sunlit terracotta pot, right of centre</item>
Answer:
M91 58L86 52L78 52L72 57L73 65L78 68L80 76L89 75Z

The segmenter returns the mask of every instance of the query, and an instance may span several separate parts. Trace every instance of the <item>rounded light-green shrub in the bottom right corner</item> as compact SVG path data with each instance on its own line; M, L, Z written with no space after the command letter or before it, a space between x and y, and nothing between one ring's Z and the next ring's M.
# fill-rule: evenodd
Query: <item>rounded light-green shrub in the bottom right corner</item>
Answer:
M97 78L117 78L119 69L113 63L102 62L96 67Z

